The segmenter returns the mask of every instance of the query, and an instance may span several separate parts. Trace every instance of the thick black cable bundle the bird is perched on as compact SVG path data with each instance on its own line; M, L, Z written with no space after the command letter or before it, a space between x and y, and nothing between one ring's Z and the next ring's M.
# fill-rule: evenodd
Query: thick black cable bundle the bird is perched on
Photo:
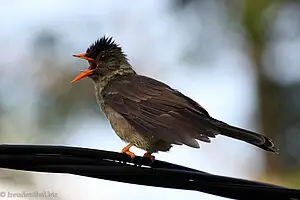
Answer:
M137 156L78 147L0 145L0 167L68 173L124 183L195 190L234 199L300 199L300 191Z

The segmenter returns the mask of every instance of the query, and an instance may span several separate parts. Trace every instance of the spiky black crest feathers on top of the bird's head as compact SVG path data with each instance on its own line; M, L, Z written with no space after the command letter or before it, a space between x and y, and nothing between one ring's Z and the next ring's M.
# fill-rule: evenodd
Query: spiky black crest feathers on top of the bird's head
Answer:
M87 50L87 57L96 58L101 51L119 50L122 53L121 47L113 40L112 37L105 37L96 40Z

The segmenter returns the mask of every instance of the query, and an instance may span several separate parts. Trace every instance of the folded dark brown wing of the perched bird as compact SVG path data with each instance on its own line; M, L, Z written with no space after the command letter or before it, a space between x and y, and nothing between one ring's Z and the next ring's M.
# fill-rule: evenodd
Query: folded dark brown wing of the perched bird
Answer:
M144 76L127 76L103 91L104 103L120 113L140 134L171 144L199 148L218 130L199 104L169 86Z

